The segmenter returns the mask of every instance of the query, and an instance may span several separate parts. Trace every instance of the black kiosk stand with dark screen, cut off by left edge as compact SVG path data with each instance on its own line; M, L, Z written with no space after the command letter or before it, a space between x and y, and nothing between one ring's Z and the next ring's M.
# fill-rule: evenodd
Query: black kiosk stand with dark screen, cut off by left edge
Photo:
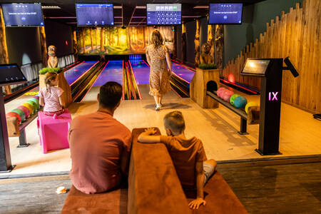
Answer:
M2 86L26 83L26 77L17 64L0 65L0 173L9 173L11 165L8 131L6 128L6 112Z

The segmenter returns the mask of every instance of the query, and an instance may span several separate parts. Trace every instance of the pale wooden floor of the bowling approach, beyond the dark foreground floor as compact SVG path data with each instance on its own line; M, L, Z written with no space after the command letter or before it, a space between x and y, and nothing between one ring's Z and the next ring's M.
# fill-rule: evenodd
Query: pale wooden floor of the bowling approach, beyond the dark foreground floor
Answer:
M240 136L240 117L224 106L217 109L203 109L190 100L180 98L173 91L166 94L164 108L155 111L153 97L148 95L148 86L139 86L143 99L122 101L115 112L115 118L130 130L139 127L156 126L165 133L163 117L174 110L182 111L186 121L186 136L197 136L203 141L208 158L217 161L245 160L251 158L307 156L321 154L321 123L310 113L301 111L285 103L281 108L280 151L281 156L260 156L258 148L258 125L248 126L248 136ZM81 103L72 103L69 110L72 117L92 113L98 108L96 96L98 87L91 88ZM239 92L238 92L239 93ZM243 93L240 93L243 94ZM249 101L258 101L259 96L246 96ZM6 111L16 108L26 97L17 98L6 104ZM258 102L259 103L259 102ZM31 146L16 148L18 138L10 138L11 159L16 168L1 176L68 171L71 167L68 149L41 153L36 121L26 128L26 136Z

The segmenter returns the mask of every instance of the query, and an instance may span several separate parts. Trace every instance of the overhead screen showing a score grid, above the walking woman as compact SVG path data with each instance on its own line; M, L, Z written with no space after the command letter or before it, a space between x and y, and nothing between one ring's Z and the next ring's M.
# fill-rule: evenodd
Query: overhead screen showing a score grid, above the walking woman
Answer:
M148 25L182 24L181 4L147 4Z

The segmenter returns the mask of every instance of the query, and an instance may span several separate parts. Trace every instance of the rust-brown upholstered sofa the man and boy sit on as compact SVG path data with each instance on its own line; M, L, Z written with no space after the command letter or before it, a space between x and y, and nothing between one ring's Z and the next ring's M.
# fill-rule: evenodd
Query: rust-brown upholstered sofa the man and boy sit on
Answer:
M205 185L206 205L190 210L188 202L195 198L195 191L183 192L163 143L138 143L144 129L133 129L128 193L120 189L86 195L72 187L61 213L247 213L218 172Z

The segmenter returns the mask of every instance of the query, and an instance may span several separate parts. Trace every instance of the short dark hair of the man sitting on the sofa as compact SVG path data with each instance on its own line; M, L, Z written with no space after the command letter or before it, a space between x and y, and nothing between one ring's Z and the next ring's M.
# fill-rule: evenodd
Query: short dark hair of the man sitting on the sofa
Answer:
M105 108L115 108L121 100L123 88L116 82L107 82L99 90L99 105Z

